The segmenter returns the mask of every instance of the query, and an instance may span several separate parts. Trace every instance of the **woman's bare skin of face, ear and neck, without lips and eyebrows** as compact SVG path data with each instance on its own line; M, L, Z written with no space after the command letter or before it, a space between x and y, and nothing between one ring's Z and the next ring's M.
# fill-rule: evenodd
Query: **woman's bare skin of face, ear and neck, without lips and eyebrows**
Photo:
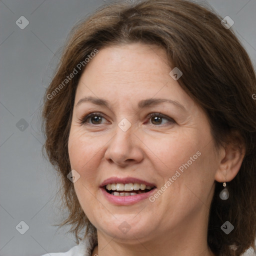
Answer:
M74 182L78 200L97 229L92 255L213 255L206 238L214 182L234 178L244 151L214 147L207 116L172 79L171 69L163 49L130 43L100 49L80 77L68 152L80 174ZM109 107L88 101L76 106L84 96L109 100ZM167 102L139 109L147 98L172 99L184 109ZM103 117L81 124L92 112ZM155 122L159 112L174 121ZM123 118L131 123L125 132L118 127ZM154 202L113 205L99 189L113 176L140 178L159 189L197 151L200 156ZM118 228L123 221L131 227L127 233Z

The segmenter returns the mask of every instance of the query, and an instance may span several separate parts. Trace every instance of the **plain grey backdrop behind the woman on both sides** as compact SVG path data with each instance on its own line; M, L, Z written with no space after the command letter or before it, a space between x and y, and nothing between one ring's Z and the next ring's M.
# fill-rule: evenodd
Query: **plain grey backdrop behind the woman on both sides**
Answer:
M255 66L256 0L200 2L234 20L232 28ZM41 155L39 107L57 61L55 52L73 24L103 3L0 0L0 256L36 256L75 245L67 228L51 226L64 213L53 201L55 172ZM20 16L29 21L24 29L15 24ZM15 228L21 220L29 226L24 234Z

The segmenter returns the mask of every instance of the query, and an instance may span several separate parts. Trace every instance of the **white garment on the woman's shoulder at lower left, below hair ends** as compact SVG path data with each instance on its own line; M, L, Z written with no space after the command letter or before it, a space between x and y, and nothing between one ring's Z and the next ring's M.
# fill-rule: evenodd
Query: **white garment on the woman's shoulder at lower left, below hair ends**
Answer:
M46 253L42 256L91 256L95 245L95 239L87 237L85 240L80 241L78 245L73 246L66 252Z

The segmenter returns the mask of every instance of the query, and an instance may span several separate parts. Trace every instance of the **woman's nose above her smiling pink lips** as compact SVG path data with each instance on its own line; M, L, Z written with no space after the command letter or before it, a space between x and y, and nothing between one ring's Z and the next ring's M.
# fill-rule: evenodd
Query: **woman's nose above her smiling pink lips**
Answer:
M143 159L141 140L133 133L132 126L121 130L116 125L116 133L109 141L105 151L105 159L121 167L139 163Z

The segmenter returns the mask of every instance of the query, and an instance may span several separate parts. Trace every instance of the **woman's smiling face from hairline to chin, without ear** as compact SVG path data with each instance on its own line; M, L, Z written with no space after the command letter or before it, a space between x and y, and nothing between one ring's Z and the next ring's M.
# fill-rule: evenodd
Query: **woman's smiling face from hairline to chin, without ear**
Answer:
M80 77L68 152L98 234L206 237L220 156L205 113L170 71L163 49L131 43L100 49Z

